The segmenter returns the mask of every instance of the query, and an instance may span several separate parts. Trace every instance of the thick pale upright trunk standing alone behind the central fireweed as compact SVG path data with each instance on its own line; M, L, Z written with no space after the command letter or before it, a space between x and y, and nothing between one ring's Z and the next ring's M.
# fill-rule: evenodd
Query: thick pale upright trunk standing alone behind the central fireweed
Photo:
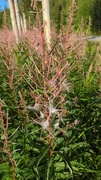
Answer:
M50 30L50 9L49 0L42 0L43 26L47 48L51 49L51 30Z

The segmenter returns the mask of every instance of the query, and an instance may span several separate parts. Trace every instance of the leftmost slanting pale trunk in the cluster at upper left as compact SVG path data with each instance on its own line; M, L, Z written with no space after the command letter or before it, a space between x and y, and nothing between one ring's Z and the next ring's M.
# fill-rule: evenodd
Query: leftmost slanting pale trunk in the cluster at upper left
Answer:
M17 19L16 19L14 2L13 2L13 0L8 0L8 3L9 3L9 8L10 8L10 15L11 15L13 32L16 36L16 41L19 42L19 30L18 30L18 26L17 26Z

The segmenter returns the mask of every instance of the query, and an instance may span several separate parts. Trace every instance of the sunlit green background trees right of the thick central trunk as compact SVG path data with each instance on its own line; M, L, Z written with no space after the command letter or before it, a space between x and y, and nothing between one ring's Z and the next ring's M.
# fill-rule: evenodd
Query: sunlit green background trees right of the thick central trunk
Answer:
M77 12L74 15L76 29L78 29L82 20L84 26L88 28L90 20L92 32L100 33L101 0L75 0L75 2L77 6ZM67 25L71 4L71 0L68 0L68 2L66 0L50 0L51 19L58 30L63 25Z

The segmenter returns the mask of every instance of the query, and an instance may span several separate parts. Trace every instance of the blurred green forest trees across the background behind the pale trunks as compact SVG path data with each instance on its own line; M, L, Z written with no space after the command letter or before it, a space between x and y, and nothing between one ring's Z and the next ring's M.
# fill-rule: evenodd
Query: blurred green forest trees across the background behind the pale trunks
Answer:
M67 24L67 18L69 15L69 8L71 0L50 0L50 17L51 23L59 30L63 25ZM101 32L101 0L76 0L77 10L75 12L75 29L78 28L80 22L83 20L85 27L88 26L89 20L91 20L91 30L95 34ZM35 12L32 12L31 1L20 0L20 9L26 15L27 22L30 17L30 25L35 26ZM41 2L38 2L41 6ZM7 15L7 27L11 28L10 12L8 8L0 12L0 28L3 27L3 14L4 11Z

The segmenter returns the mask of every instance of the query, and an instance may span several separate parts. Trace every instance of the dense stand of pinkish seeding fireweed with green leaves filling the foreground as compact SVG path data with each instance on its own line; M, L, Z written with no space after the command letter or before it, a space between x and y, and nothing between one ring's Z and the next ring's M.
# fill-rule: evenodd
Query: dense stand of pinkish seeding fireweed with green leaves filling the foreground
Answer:
M73 32L74 7L51 50L41 25L0 47L1 180L100 180L99 55Z

